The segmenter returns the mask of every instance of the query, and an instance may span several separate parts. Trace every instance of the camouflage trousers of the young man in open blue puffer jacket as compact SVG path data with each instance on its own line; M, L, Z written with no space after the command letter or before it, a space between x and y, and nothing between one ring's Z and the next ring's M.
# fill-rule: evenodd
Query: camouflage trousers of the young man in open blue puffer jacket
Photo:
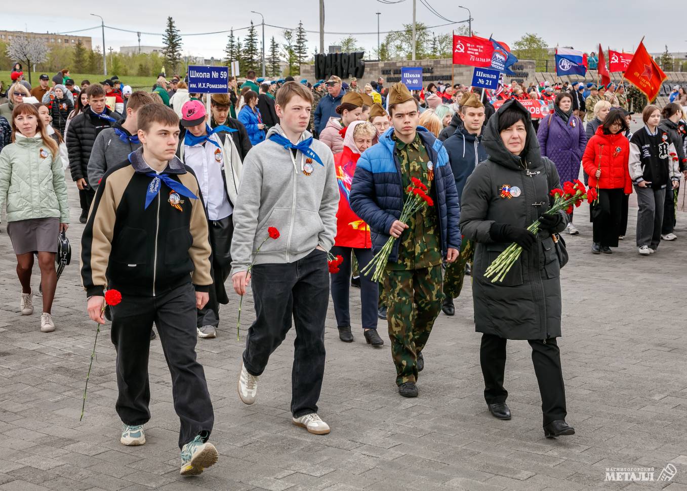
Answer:
M418 379L417 356L427 344L443 300L441 265L420 270L386 270L384 303L396 385Z

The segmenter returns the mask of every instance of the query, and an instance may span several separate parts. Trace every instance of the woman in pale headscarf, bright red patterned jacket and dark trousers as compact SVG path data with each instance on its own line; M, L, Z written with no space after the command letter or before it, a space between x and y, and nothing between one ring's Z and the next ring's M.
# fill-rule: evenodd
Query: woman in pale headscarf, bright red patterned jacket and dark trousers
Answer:
M343 262L337 272L331 272L331 292L334 314L339 328L339 339L352 342L350 330L349 291L351 254L358 260L359 270L372 260L370 227L350 208L350 185L360 154L377 142L374 124L353 121L346 128L343 151L334 155L334 165L339 184L339 210L337 211L337 235L334 238L332 254L341 256ZM360 303L365 340L375 348L381 348L384 341L377 334L378 286L369 276L360 275Z

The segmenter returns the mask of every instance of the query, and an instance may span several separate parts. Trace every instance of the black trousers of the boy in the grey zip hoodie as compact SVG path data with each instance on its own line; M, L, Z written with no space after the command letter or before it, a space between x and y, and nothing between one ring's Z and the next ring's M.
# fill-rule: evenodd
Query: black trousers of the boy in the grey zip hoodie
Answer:
M324 321L329 306L327 253L315 249L293 263L256 264L251 270L256 320L248 329L243 363L262 375L269 356L296 328L291 371L291 413L317 413L324 378Z

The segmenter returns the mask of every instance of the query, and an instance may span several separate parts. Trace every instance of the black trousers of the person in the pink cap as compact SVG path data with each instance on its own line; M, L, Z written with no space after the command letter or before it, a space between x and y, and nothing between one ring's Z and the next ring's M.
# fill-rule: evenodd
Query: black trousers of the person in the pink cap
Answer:
M210 299L205 307L198 309L197 327L219 325L219 304L227 305L229 297L224 286L232 270L232 237L234 222L232 215L221 220L207 222L210 246L212 246L212 287Z

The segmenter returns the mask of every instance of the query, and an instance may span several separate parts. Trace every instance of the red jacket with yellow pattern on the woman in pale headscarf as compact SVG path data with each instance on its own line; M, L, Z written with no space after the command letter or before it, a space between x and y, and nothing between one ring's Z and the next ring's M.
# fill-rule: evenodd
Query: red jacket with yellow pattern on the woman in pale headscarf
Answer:
M348 133L348 132L347 132ZM352 132L351 132L352 133ZM351 137L352 140L352 137ZM334 166L339 184L339 210L337 210L337 236L334 245L359 249L372 248L370 227L350 208L350 184L360 154L344 145L343 151L334 155Z

